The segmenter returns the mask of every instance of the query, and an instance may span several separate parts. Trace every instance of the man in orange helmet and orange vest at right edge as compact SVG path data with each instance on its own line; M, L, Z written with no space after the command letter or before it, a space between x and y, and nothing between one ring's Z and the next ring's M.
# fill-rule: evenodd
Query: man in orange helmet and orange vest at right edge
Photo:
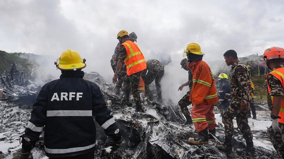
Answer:
M274 50L273 50L274 49ZM283 48L280 47L272 47L269 49L266 49L264 52L264 60L267 64L267 67L270 67L273 69L272 73L275 72L279 72L276 74L280 74L280 76L283 74L283 58L275 58L275 51L277 52L277 56L279 55L279 57L283 57L284 54L284 50ZM281 50L281 51L280 51ZM272 52L272 54L271 54ZM277 57L276 56L276 57ZM262 90L262 94L261 94L261 98L262 95L265 91L265 89L268 90L268 86L270 88L270 95L269 92L267 93L267 102L268 102L268 107L271 110L271 117L272 117L272 125L268 128L267 130L267 134L270 138L270 141L273 145L273 147L275 148L275 150L277 151L277 153L279 153L282 158L284 158L284 143L283 143L283 139L284 139L284 124L278 122L278 116L282 117L279 114L279 111L281 112L281 109L283 109L283 102L280 99L283 99L284 96L284 89L283 89L283 85L282 82L274 76L275 74L268 74L267 75L267 81L264 81L264 86L263 86L263 90ZM283 78L283 77L282 77ZM268 85L267 85L268 83ZM269 99L268 96L273 97L274 102L272 103L271 98ZM270 100L270 101L268 101ZM281 104L280 104L281 103ZM278 112L277 112L278 111Z

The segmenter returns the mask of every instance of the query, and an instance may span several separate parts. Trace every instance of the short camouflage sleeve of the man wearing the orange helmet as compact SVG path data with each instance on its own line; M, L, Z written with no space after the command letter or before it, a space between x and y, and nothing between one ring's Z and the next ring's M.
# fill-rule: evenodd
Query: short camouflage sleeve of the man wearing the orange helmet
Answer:
M283 67L283 65L280 65L280 66ZM270 87L271 96L274 96L274 95L284 96L283 87L282 87L281 81L278 78L276 78L272 74L268 74L267 83Z

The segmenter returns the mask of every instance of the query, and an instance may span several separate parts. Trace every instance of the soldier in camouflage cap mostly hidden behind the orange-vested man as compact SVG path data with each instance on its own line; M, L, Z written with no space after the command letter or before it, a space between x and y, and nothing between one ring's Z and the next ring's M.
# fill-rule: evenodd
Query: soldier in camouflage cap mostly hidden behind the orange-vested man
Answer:
M137 42L137 35L135 32L132 32L129 34L129 40L132 42ZM114 53L112 55L112 59L110 60L110 65L112 66L113 72L116 70L117 62L118 62L118 56L119 56L119 47L120 47L120 42L117 43ZM120 69L120 72L118 73L118 82L114 87L115 94L119 95L120 93L120 88L122 87L123 79L126 75L126 66L123 63L122 68Z

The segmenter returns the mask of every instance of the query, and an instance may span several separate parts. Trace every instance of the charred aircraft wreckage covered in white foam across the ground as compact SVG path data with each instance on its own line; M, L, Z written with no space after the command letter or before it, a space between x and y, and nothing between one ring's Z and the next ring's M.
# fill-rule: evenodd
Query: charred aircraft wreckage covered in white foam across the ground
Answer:
M108 145L110 138L108 138L103 129L96 124L96 159L281 158L275 151L257 146L256 156L250 156L250 154L245 152L245 140L240 130L237 128L235 128L233 138L234 150L228 154L219 151L215 148L215 145L225 140L224 128L221 123L218 123L216 127L217 138L213 137L214 139L209 139L209 144L207 145L193 145L188 142L188 138L197 137L197 132L193 126L181 126L185 122L185 118L180 113L178 105L172 103L171 100L165 100L160 104L150 102L145 98L143 99L141 95L141 99L144 102L143 107L146 112L135 112L134 102L123 105L123 94L121 93L120 96L114 94L114 85L101 82L104 80L98 78L97 75L94 76L94 74L88 74L84 78L99 85L107 106L112 110L112 115L117 121L124 140L118 150L111 150ZM9 111L9 109L11 109L10 107L19 106L20 108L21 104L29 105L28 109L23 110L20 108L17 110L18 112L10 111L10 113L16 115L11 114L9 116L9 112L5 112L7 115L1 115L2 118L7 117L7 119L1 119L1 121L4 122L4 124L2 124L1 133L9 129L11 131L10 134L13 134L13 136L0 138L0 141L8 139L19 140L18 136L23 133L25 124L29 120L30 108L35 101L40 86L26 80L25 72L19 72L16 64L12 64L10 70L5 71L1 76L0 90L1 99L5 100L1 101L1 111ZM20 122L17 122L18 125L15 125L14 128L18 127L21 131L18 131L17 128L13 128L15 120L20 120ZM254 133L254 135L255 134L256 133ZM267 133L265 131L257 132L257 136L266 138ZM31 151L34 159L45 156L43 138L44 132L35 148ZM19 143L19 141L17 142ZM20 147L18 146L18 148ZM17 155L13 155L13 153L16 154L17 151L20 150L11 148L8 155L13 156L11 158L16 158Z

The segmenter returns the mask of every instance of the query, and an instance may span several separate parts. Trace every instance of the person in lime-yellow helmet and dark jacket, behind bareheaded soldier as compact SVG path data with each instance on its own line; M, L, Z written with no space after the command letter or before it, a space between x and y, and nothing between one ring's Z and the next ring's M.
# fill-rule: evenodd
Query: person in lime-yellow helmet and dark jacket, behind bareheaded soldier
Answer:
M222 116L231 102L231 86L225 73L221 73L218 76L218 82L220 83L218 109Z

